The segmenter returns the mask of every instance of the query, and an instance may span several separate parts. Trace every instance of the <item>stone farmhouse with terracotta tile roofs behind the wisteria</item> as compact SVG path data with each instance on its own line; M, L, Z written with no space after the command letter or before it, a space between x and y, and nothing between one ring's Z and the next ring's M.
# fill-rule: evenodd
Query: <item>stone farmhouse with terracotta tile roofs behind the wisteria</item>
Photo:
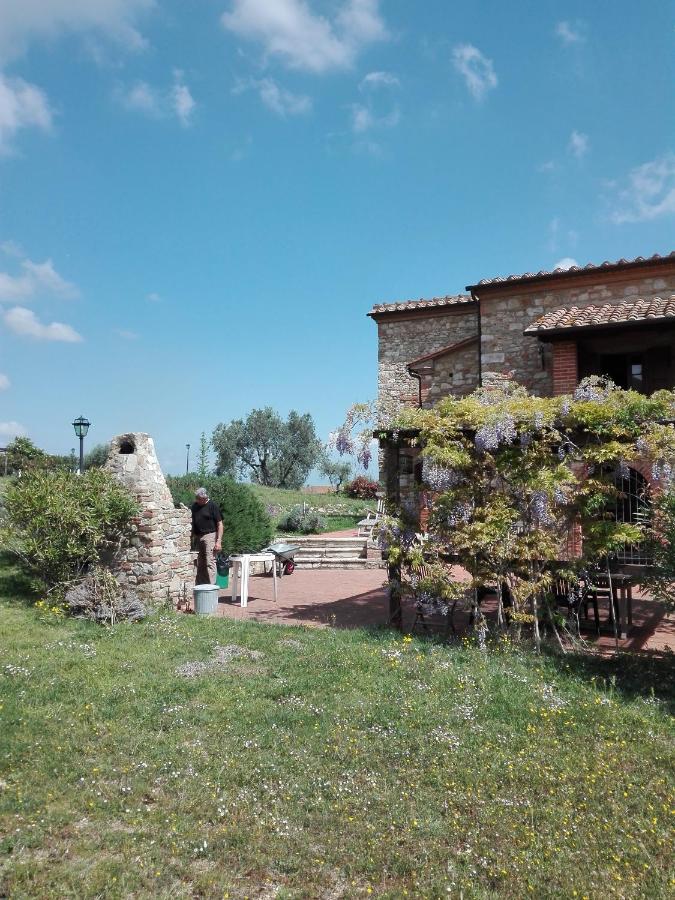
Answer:
M383 409L433 406L496 376L540 396L572 393L594 374L646 394L675 387L675 252L485 278L466 290L380 303L368 313L378 328ZM418 456L404 435L381 440L389 500L399 502L421 482ZM648 480L646 466L633 461L621 476L618 518L635 521ZM640 547L626 548L622 562L644 561Z

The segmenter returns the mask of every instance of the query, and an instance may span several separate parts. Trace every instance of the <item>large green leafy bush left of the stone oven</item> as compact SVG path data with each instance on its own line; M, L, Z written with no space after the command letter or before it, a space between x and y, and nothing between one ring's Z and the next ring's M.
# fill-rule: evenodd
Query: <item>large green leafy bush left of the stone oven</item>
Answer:
M108 472L25 472L5 494L0 547L47 590L85 574L119 545L138 512Z

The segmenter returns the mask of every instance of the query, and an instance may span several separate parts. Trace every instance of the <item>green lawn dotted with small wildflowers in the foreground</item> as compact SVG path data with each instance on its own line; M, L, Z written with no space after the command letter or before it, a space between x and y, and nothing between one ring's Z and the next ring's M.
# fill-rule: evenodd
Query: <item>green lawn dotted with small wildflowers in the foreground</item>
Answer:
M672 896L670 660L19 594L0 571L1 897Z

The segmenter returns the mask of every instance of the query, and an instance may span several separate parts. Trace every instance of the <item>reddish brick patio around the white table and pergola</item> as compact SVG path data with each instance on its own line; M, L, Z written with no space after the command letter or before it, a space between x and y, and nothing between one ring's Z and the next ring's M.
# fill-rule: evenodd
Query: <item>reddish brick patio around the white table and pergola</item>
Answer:
M459 575L460 572L458 571ZM292 575L279 579L279 600L274 603L272 578L265 575L251 576L248 606L242 609L232 602L230 589L221 591L218 615L232 619L252 619L285 625L313 625L319 627L356 628L359 626L385 625L388 601L384 581L385 570L296 569ZM660 604L640 596L633 600L633 627L626 640L620 641L625 650L661 653L675 650L675 619L666 616ZM494 613L495 604L486 601L488 617ZM601 619L606 619L607 609L601 607ZM415 619L412 603L404 602L404 629L410 630ZM439 619L431 623L439 627ZM466 629L467 616L455 617L458 633ZM583 636L589 644L601 651L613 648L614 638L609 629L603 629L599 639L591 630Z

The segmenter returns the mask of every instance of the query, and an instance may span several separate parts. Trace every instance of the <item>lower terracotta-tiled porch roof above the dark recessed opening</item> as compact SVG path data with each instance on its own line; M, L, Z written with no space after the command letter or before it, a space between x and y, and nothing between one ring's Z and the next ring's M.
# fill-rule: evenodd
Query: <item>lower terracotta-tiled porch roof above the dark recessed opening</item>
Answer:
M568 328L601 328L626 322L647 322L654 319L675 320L675 294L654 297L652 300L626 300L605 303L603 306L561 306L532 322L524 334L563 331Z

